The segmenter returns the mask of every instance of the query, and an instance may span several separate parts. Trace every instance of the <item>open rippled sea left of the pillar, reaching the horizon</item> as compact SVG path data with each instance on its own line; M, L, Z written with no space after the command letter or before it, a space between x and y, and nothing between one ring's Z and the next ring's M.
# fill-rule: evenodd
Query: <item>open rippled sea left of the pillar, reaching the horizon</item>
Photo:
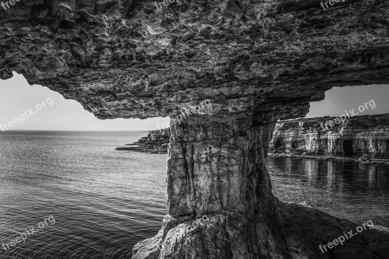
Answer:
M131 258L167 214L166 155L115 150L134 133L0 134L0 242L55 219L0 258Z

